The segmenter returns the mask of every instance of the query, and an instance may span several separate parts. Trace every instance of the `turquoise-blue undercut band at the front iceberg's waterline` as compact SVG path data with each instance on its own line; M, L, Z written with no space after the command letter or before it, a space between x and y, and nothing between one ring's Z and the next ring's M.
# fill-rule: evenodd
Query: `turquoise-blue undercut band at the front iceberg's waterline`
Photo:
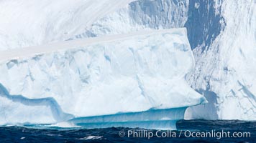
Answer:
M145 129L176 129L176 122L184 119L187 107L173 109L150 109L145 112L128 112L96 117L70 119L68 124L86 128L140 127Z

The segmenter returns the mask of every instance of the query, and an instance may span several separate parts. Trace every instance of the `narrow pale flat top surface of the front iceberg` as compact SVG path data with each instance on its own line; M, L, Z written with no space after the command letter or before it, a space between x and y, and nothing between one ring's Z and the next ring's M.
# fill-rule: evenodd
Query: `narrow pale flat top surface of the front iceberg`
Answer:
M111 41L122 41L136 36L150 36L154 34L177 34L180 36L187 36L186 28L178 29L160 29L160 30L148 30L148 31L136 31L129 34L116 34L109 36L98 36L87 39L76 39L70 41L60 41L56 43L44 44L40 46L27 46L19 49L7 49L0 52L0 61L6 61L10 59L22 59L30 56L47 54L53 51L65 51L67 49L76 49L82 46L88 46L91 44L101 44ZM187 40L187 39L186 39Z

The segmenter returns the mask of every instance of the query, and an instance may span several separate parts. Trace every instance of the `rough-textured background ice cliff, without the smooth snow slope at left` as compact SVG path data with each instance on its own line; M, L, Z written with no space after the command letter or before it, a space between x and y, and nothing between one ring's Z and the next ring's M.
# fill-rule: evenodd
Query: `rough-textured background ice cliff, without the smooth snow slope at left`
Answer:
M255 120L255 6L254 0L133 1L71 39L186 27L196 59L186 80L209 101L189 108L186 118Z

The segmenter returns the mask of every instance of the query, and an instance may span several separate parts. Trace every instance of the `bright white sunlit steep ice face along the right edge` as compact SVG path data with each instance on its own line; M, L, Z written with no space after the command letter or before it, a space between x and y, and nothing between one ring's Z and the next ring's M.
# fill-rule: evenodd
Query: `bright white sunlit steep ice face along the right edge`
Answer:
M256 2L223 1L219 13L224 29L207 51L193 50L196 70L188 81L194 89L213 93L219 119L255 120Z

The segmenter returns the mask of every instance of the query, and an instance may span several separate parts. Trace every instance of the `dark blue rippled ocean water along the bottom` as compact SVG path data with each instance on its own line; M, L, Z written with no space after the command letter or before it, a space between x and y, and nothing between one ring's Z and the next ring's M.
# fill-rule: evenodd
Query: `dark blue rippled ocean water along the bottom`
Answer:
M208 133L207 133L208 132ZM228 136L229 132L229 137ZM249 133L250 135L249 135ZM129 135L128 135L129 134ZM192 137L193 134L193 137ZM196 134L198 137L196 137ZM208 134L205 137L204 134ZM181 120L177 131L77 129L56 127L0 127L0 142L256 142L256 122L237 120ZM235 137L234 137L234 136ZM211 136L211 137L209 137ZM247 137L246 137L247 136ZM150 139L149 139L150 138Z

